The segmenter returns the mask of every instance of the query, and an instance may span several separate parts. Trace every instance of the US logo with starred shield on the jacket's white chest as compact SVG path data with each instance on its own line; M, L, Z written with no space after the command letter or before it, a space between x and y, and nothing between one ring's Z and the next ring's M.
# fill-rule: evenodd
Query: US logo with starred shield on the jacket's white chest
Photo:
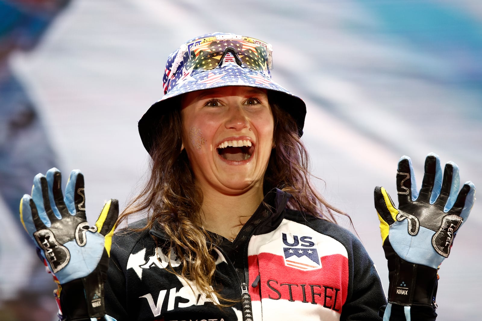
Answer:
M321 268L315 239L307 235L294 235L281 232L283 240L284 264L299 270Z

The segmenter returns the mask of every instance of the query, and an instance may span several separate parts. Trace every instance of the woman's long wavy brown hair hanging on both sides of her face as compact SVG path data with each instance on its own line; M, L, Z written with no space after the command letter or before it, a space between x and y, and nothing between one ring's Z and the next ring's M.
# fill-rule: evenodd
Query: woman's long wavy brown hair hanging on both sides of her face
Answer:
M180 98L172 100L172 105L181 105ZM295 120L282 108L284 106L276 93L268 92L268 101L274 117L275 147L271 151L264 176L265 194L273 188L279 188L293 195L287 205L291 209L335 223L334 213L348 217L329 205L316 191L310 181L312 175L309 171L308 152L298 137ZM194 183L186 150L181 151L180 108L173 108L161 115L155 132L156 137L150 151L150 176L142 191L121 213L119 223L126 223L129 217L139 212L147 212L147 225L140 230L157 226L164 231L169 241L163 245L169 251L174 251L182 266L180 272L171 271L193 281L198 291L215 295L227 303L232 302L221 297L211 287L215 258L211 254L214 245L210 244L215 244L215 240L195 223L203 196ZM171 257L171 253L167 257Z

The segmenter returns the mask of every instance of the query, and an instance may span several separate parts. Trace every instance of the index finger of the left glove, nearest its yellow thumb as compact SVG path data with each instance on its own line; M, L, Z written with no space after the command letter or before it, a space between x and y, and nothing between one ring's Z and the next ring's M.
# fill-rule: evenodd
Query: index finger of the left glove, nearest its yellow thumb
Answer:
M65 204L70 214L86 219L84 176L79 169L70 172L65 189Z

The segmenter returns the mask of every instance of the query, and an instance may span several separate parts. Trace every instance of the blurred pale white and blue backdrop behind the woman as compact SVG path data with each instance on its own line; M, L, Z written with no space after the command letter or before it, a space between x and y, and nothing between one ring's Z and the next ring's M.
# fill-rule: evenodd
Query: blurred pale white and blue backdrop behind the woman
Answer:
M64 180L84 173L91 222L105 200L123 207L142 182L137 120L162 96L167 56L214 31L273 45L274 80L308 106L303 139L318 186L350 215L388 289L373 188L396 198L399 157L412 158L419 183L435 152L460 167L462 183L482 186L480 1L73 1L35 51L10 63ZM478 319L480 208L442 263L437 320Z

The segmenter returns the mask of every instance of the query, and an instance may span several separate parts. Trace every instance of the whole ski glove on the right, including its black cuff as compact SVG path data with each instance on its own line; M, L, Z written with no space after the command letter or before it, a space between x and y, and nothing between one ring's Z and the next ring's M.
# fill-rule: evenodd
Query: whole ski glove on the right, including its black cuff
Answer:
M459 184L457 165L448 162L442 179L439 156L430 153L419 193L410 157L400 158L398 208L383 187L375 187L375 208L388 260L389 304L385 317L387 313L389 317L390 303L436 308L437 270L449 256L455 234L469 217L475 200L474 184L466 182L460 192ZM409 317L410 308L404 309Z

